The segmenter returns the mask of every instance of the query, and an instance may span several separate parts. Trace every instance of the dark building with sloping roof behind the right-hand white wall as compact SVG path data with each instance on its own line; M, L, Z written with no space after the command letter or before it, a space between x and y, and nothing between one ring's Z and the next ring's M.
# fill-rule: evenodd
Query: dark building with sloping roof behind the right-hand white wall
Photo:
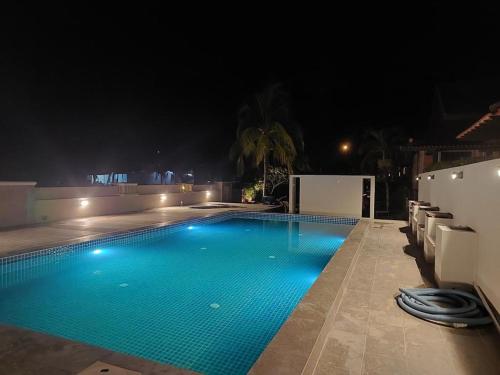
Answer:
M436 88L429 131L419 142L401 147L414 152L416 177L431 169L500 157L500 81L466 81ZM484 111L489 106L489 111Z

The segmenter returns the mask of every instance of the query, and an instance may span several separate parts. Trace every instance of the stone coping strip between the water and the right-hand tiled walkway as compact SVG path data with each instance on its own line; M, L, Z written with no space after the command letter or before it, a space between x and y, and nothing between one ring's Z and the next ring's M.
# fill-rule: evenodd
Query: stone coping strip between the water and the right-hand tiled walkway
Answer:
M339 307L369 219L360 219L249 371L250 375L312 374L326 329Z

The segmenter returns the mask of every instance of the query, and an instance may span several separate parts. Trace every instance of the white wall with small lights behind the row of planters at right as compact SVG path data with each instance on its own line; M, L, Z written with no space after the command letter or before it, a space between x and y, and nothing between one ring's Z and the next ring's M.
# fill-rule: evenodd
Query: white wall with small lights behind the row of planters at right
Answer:
M500 311L500 159L421 174L418 199L451 212L478 234L475 283ZM451 178L463 171L463 179ZM427 176L434 175L434 180Z

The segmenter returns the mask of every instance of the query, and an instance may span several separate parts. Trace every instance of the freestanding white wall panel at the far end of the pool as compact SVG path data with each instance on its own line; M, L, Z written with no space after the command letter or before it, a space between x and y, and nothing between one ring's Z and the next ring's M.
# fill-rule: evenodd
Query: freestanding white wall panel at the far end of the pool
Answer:
M375 177L373 176L290 176L290 207L293 209L293 178L300 177L300 213L323 213L361 217L363 179L371 180L370 217L375 214Z

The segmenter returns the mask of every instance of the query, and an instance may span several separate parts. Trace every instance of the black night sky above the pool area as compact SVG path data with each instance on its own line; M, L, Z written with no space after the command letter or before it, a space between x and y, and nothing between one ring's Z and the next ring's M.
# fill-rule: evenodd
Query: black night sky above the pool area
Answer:
M342 139L385 126L416 136L436 84L498 76L498 9L425 3L5 10L0 179L158 158L228 178L238 107L273 82L291 93L313 172L338 172Z

